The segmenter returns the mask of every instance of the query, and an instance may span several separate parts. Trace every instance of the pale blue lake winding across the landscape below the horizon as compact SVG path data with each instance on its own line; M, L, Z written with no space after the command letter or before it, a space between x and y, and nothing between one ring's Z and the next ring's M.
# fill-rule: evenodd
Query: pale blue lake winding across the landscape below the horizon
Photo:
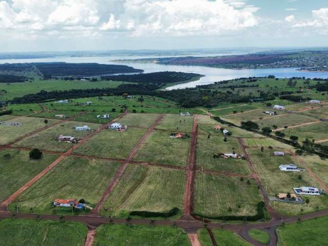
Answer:
M211 54L214 55L214 54ZM209 54L204 54L209 56ZM154 56L152 56L154 57ZM165 56L158 56L165 57ZM328 73L325 72L306 72L298 71L297 68L272 68L272 69L222 69L222 68L209 68L201 66L176 66L176 65L160 65L153 63L129 63L129 62L114 62L111 60L117 59L138 59L138 58L151 58L147 56L90 56L90 57L50 57L50 58L37 58L37 59L3 59L0 63L42 63L53 61L64 61L66 63L99 63L99 64L117 64L127 65L136 69L145 70L145 73L162 72L162 71L176 71L186 73L199 73L205 75L199 80L192 81L185 84L180 84L166 88L167 90L192 88L198 85L208 85L221 80L228 80L240 77L262 77L274 75L278 78L285 77L306 77L306 78L328 78Z

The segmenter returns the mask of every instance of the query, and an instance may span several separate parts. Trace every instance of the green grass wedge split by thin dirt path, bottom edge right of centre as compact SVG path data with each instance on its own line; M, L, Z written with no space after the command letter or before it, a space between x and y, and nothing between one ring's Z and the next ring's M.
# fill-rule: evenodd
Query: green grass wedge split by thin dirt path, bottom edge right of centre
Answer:
M245 241L239 235L223 229L212 230L215 241L220 246L251 246L252 244ZM206 229L199 229L197 231L198 239L202 246L212 246L211 237Z

